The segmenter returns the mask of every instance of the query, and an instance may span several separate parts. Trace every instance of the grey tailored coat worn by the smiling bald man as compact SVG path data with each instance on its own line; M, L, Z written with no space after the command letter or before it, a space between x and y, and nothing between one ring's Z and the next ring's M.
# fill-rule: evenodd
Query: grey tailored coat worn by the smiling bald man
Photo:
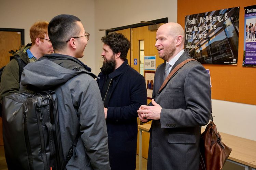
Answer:
M172 69L190 58L185 51ZM150 129L148 170L198 170L201 126L211 114L210 77L197 61L184 65L158 93L165 63L158 66L153 98L161 107L160 120Z

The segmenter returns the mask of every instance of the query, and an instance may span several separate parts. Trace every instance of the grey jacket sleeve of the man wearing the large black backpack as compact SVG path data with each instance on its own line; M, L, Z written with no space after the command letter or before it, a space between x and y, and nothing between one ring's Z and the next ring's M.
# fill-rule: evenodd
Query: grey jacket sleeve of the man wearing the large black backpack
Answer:
M79 96L81 138L93 169L109 170L108 134L103 103L96 81L94 79L88 81L90 82L86 90Z

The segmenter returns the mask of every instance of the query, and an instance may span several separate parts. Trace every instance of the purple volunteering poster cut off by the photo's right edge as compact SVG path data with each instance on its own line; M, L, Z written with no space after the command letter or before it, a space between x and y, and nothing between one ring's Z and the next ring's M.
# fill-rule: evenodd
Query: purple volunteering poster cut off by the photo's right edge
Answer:
M256 67L256 5L244 7L244 67Z

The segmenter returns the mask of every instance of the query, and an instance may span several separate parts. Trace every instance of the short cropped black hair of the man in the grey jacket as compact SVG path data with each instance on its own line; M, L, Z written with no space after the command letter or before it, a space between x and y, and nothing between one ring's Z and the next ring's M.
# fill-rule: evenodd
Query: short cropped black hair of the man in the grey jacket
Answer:
M81 20L74 15L61 14L49 22L48 35L54 50L63 49L67 40L79 34L77 21Z

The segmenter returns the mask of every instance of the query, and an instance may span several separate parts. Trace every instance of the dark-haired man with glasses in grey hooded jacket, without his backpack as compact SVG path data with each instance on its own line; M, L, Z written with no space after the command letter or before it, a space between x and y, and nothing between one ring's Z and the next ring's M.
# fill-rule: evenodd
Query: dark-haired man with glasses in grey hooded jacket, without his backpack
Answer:
M108 134L97 76L78 60L84 56L90 34L79 18L64 14L49 22L48 33L55 53L24 68L20 89L55 91L64 158L77 140L67 170L109 170Z

